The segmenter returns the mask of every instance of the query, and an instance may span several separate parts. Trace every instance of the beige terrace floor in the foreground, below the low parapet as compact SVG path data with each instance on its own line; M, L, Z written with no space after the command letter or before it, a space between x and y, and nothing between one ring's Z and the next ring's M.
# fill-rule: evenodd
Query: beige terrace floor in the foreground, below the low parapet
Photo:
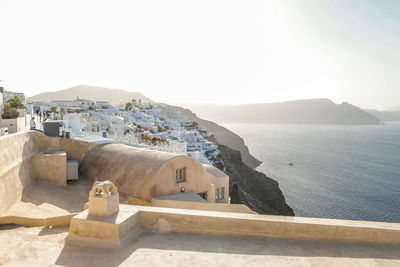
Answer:
M400 266L400 247L142 231L116 246L0 225L4 266Z

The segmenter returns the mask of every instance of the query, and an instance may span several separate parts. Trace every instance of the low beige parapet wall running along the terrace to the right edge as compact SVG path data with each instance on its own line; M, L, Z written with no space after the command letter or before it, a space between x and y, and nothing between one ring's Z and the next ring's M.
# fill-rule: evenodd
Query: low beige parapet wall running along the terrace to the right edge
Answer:
M278 238L298 240L338 241L352 243L376 243L400 245L400 224L353 222L341 220L320 220L284 216L228 213L218 211L172 209L149 206L120 205L120 212L109 217L90 217L87 211L75 216L76 225L97 225L98 221L119 224L128 220L127 215L138 217L140 226L160 232L185 234L213 234L235 237ZM139 214L139 216L137 216ZM288 220L289 219L289 220ZM289 222L288 222L289 221ZM71 227L72 228L72 227ZM90 230L86 230L90 228ZM73 234L107 239L119 236L119 241L126 237L119 229L109 228L114 234L104 236L103 229L79 226ZM87 232L90 232L90 235ZM115 239L110 239L115 242Z

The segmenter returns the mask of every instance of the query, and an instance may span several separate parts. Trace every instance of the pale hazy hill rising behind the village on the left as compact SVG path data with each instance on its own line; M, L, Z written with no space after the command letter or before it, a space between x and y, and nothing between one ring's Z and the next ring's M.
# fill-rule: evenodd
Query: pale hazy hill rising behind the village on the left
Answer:
M51 101L51 100L73 100L76 98L90 99L94 101L108 101L110 104L125 104L132 99L143 102L153 102L140 92L128 92L120 89L110 89L105 87L78 85L68 89L45 92L31 97L33 101Z

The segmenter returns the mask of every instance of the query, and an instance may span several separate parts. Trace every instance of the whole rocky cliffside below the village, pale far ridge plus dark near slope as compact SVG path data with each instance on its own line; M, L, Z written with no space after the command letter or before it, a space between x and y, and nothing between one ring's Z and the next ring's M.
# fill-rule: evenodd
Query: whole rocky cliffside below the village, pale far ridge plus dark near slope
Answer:
M253 169L260 161L250 155L240 136L214 122L198 118L188 109L173 108L213 134L208 139L218 144L225 163L225 172L230 177L231 203L243 203L260 214L294 215L292 208L286 204L278 182Z

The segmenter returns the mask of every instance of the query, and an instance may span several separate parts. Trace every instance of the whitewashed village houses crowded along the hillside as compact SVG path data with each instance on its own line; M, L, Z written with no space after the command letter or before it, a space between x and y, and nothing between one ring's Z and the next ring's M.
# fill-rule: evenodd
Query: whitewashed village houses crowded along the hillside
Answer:
M208 130L168 105L132 99L125 105L113 106L108 101L79 97L76 100L34 102L26 100L23 93L4 91L3 95L3 107L14 97L21 99L26 107L18 109L18 118L3 119L3 135L29 129L34 117L37 130L43 131L46 122L57 122L62 137L187 154L203 164L223 170L218 147L207 140Z

